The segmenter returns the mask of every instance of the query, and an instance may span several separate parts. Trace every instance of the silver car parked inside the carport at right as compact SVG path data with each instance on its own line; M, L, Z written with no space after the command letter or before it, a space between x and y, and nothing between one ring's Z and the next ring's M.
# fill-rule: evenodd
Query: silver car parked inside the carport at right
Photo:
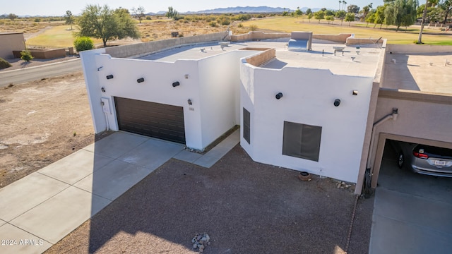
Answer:
M419 174L452 177L452 149L391 140L400 169Z

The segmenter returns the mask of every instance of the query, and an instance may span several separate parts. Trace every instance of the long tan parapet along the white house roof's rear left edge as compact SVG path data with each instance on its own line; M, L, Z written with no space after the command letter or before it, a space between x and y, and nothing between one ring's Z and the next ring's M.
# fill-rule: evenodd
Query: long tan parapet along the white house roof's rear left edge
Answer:
M227 37L228 32L215 32L208 35L196 35L190 37L180 37L175 39L160 40L155 42L143 42L138 44L123 45L105 48L105 53L112 57L138 57L146 54L160 52L165 49L181 47L188 44L218 42Z

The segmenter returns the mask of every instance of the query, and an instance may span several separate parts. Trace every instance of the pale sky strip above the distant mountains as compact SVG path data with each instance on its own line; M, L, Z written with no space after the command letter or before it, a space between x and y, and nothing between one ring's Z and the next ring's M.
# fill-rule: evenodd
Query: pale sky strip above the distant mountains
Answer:
M359 7L367 6L373 3L374 8L382 5L383 0L348 0L347 6L355 4ZM339 8L339 0L166 0L166 1L149 1L149 0L0 0L0 14L14 13L18 16L64 16L66 11L71 11L74 15L82 13L83 8L88 4L107 4L110 8L127 8L143 6L146 13L157 11L167 11L168 6L172 6L179 13L186 11L203 11L213 8L227 8L235 6L270 6L282 7L295 10L297 7L303 8L331 8L337 10Z

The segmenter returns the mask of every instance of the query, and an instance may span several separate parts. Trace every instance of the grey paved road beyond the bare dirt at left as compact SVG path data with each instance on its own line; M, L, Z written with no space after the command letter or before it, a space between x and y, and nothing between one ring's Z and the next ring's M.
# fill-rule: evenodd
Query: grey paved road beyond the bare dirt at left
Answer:
M51 78L81 70L82 64L80 59L74 59L20 70L0 72L0 87L5 87L11 83L17 85L32 80L40 80L41 78Z

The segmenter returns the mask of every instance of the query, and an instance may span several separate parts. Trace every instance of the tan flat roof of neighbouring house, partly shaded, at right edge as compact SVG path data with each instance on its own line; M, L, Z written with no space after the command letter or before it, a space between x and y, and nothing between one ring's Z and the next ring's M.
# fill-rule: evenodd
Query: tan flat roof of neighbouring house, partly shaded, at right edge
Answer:
M386 53L385 88L452 94L452 52Z

